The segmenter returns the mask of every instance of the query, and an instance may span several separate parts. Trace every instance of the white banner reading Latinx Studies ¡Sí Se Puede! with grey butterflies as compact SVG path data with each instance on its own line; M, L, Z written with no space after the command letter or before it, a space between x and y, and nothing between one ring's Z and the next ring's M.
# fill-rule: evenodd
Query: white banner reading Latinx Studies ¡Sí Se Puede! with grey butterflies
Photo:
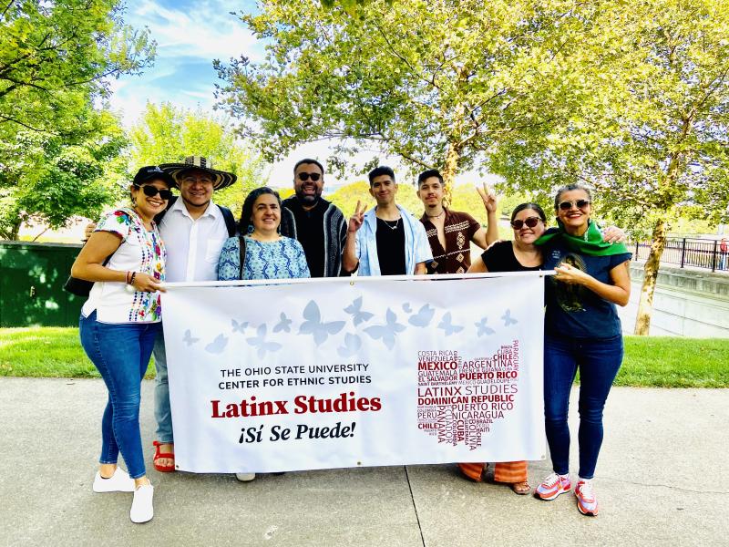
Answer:
M178 469L543 459L542 275L168 284Z

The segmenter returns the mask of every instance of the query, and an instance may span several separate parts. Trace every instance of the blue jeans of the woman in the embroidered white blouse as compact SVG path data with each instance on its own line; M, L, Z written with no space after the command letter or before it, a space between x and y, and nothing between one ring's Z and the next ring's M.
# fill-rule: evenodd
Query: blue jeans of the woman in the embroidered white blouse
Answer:
M145 475L139 431L141 381L147 371L159 323L99 323L94 311L81 315L81 346L98 368L108 389L107 408L101 420L99 463L117 463L119 451L129 476Z

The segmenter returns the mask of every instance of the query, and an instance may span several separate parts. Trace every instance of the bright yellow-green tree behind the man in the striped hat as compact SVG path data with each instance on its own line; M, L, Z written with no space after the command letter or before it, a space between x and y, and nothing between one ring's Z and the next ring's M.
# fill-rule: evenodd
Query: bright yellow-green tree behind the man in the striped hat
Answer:
M220 119L200 110L188 111L169 103L148 103L139 122L129 131L130 163L142 165L182 161L186 156L204 156L213 168L238 175L231 188L216 192L215 201L240 212L245 196L266 181L263 162L250 146L237 139Z

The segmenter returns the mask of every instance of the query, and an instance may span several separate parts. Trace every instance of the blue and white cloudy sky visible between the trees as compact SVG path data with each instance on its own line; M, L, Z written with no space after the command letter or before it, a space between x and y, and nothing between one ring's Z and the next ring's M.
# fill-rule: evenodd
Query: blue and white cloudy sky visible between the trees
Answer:
M148 101L155 104L168 101L176 107L212 111L214 84L222 83L212 67L213 59L227 61L244 55L256 62L265 55L264 44L252 36L240 17L231 15L231 11L252 13L255 10L252 0L128 0L125 23L138 29L149 28L150 36L157 42L157 57L154 66L141 76L125 76L111 82L111 108L120 113L124 126L129 128L136 123ZM288 157L270 166L269 183L275 187L289 184L297 160L306 157L326 160L331 145L323 141L293 150ZM363 154L354 161L364 163L370 158L371 155ZM395 172L401 166L396 158L383 157L382 162ZM363 178L349 176L337 180L330 174L326 177L326 187L333 190ZM474 181L477 175L463 173L458 179Z

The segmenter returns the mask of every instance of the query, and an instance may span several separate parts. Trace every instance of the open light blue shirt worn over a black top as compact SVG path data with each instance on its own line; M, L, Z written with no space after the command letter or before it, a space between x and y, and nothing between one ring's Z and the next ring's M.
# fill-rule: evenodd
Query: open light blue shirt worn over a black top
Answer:
M429 263L433 260L433 252L427 243L426 228L406 209L397 205L405 228L405 267L407 274L415 274L417 263ZM382 275L380 261L377 256L377 217L375 208L364 213L364 222L357 231L356 253L359 258L357 275Z

